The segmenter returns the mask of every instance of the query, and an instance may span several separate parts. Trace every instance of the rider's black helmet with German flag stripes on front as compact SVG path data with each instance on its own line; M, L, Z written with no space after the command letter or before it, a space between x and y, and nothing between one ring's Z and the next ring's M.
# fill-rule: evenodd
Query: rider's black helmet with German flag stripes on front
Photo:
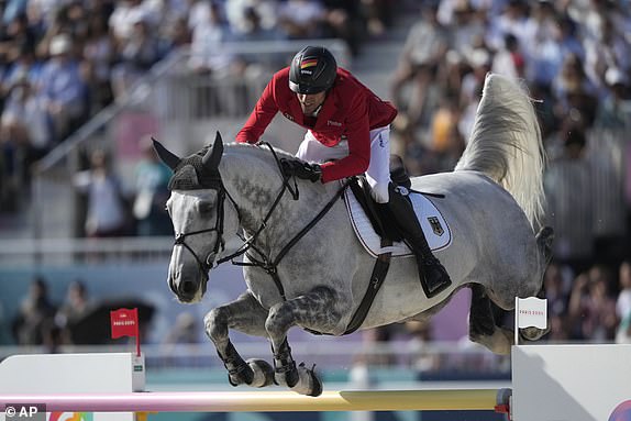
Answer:
M308 46L294 56L289 89L296 93L318 93L331 89L337 74L333 54L324 47Z

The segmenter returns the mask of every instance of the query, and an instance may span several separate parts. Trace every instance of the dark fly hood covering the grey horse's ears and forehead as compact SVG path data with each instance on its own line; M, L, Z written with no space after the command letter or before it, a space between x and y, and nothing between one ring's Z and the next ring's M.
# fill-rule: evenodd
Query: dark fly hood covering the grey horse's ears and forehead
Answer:
M173 169L173 176L168 184L169 190L221 188L219 162L223 153L223 142L219 132L212 145L204 146L198 153L186 158L177 157L155 140L154 147L159 158Z

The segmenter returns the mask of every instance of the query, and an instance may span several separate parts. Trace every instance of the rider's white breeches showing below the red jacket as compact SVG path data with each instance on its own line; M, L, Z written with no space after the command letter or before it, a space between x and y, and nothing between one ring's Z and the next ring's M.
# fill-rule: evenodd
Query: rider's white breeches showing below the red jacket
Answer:
M335 146L324 146L307 131L296 156L310 163L324 163L342 159L348 155L348 142L341 141ZM388 202L388 184L390 182L390 126L370 130L370 163L366 178L373 190L373 198L378 203Z

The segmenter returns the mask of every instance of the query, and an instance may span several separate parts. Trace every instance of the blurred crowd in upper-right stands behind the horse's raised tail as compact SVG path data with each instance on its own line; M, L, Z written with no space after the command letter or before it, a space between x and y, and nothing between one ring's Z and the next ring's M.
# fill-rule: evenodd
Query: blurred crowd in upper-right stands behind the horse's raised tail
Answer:
M552 157L569 132L631 125L631 14L624 2L443 0L422 8L391 82L400 152L449 170L469 136L485 75L524 81ZM554 143L554 144L553 144ZM418 157L424 149L433 154Z

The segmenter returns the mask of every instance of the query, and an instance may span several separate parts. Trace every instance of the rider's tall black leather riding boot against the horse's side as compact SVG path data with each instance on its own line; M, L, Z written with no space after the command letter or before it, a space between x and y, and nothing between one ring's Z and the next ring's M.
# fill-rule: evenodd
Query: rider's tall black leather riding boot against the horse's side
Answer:
M406 239L406 243L417 256L423 290L428 298L432 298L447 288L452 280L443 265L432 254L410 199L401 195L392 184L390 184L388 190L390 196L388 208L392 212L397 226Z

